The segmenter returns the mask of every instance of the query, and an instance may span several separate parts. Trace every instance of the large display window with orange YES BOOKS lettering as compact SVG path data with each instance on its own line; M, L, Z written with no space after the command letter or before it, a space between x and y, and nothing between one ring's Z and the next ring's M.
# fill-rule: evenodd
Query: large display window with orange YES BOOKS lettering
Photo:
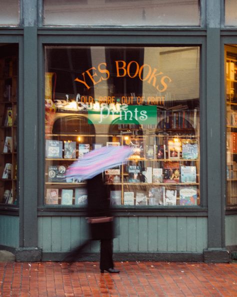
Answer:
M108 145L134 150L103 172L112 205L199 205L199 144L199 47L45 47L46 205L85 205L66 168Z

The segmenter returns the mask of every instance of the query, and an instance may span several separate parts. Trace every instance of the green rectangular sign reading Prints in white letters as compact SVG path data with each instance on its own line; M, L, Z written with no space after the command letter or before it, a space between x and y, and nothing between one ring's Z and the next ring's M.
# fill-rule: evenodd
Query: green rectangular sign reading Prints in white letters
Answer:
M157 124L157 108L152 105L125 105L119 110L101 106L88 110L89 124Z

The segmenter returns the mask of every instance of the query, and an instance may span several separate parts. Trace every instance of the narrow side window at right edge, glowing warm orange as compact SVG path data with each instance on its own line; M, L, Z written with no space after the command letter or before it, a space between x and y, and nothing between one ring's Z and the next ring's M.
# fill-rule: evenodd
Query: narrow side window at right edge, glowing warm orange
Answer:
M226 198L237 205L237 48L225 46L226 54Z

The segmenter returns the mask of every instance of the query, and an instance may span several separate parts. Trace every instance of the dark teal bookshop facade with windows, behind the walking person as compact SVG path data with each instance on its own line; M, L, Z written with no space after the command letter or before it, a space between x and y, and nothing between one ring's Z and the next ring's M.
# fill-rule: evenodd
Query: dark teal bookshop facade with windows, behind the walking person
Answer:
M1 248L18 261L61 260L88 236L85 181L66 168L93 148L131 145L104 172L114 259L229 261L234 11L231 0L2 4Z

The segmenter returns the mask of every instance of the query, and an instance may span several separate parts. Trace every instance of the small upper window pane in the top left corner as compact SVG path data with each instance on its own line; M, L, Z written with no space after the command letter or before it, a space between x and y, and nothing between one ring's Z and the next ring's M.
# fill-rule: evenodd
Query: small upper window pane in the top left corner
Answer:
M0 1L0 26L19 24L19 0Z

